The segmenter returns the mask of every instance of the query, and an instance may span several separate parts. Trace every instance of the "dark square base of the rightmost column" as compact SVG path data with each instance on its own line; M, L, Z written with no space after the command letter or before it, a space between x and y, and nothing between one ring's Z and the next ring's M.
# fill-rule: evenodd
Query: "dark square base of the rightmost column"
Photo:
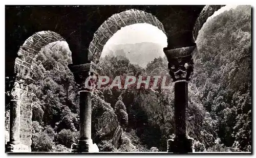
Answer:
M167 152L173 153L191 153L193 152L193 138L174 138L167 140Z

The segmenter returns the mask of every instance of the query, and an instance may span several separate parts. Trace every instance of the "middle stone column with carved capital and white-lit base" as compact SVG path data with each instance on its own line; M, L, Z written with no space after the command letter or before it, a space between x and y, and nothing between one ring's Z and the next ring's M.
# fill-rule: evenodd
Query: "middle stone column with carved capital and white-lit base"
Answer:
M72 152L98 152L99 149L96 144L93 144L91 138L91 93L94 89L95 73L92 70L92 63L69 65L75 77L75 82L79 86L79 131L80 137L78 144L72 144ZM89 80L89 77L91 79Z

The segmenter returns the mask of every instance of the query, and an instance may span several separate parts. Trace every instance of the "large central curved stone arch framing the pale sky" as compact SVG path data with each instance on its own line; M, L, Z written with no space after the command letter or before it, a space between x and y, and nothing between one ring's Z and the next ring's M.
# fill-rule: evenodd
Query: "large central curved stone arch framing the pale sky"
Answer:
M166 34L163 24L151 13L131 9L114 14L105 20L94 33L93 40L89 45L89 60L97 64L105 43L122 27L135 23L152 24Z

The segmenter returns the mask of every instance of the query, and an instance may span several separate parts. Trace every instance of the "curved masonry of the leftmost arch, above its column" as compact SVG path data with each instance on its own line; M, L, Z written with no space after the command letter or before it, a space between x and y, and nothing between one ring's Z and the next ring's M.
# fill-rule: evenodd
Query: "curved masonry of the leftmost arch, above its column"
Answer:
M40 31L30 36L18 50L14 73L23 78L29 77L30 66L35 55L42 47L56 41L65 41L65 39L52 31Z

